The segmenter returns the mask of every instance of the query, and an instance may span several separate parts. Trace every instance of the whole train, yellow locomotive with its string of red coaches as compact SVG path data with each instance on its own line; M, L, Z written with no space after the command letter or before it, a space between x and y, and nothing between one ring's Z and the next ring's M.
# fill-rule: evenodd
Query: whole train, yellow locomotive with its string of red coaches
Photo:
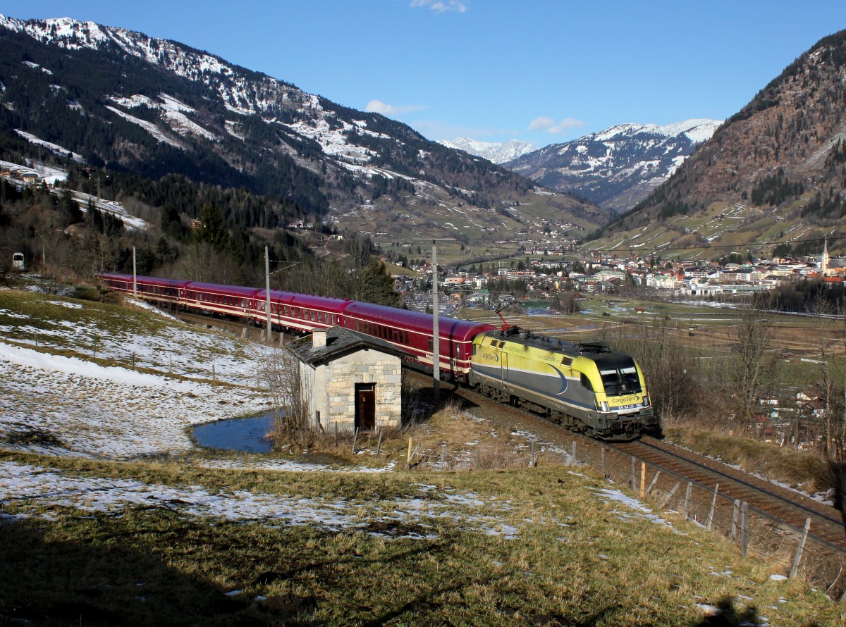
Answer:
M402 348L404 365L434 369L430 314L258 287L198 281L99 275L103 286L148 301L294 333L340 326ZM467 385L498 401L523 406L553 422L598 439L629 440L660 432L645 379L634 358L600 342L575 342L515 326L438 317L442 379Z

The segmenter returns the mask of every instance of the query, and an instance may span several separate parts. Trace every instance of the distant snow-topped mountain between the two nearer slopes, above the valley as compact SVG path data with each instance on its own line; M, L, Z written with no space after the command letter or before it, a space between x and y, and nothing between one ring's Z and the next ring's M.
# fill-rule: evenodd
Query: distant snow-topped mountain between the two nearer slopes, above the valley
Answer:
M619 124L563 144L550 144L503 165L548 188L624 211L666 181L720 124L709 119L666 126Z

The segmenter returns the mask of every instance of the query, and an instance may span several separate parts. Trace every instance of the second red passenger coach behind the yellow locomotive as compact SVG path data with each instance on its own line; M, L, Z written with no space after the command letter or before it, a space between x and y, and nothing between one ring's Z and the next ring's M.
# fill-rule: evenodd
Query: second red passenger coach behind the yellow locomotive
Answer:
M267 292L261 290L255 296L257 309L256 320L264 323ZM298 294L296 292L270 292L270 311L273 324L298 331L311 332L313 329L328 329L331 326L343 326L343 309L352 301L343 298L325 298Z

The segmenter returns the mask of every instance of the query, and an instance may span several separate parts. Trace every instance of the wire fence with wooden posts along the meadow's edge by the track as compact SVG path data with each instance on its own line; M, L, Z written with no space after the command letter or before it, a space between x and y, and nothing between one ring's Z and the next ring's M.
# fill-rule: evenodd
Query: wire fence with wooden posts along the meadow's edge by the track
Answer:
M573 440L569 449L532 442L518 449L481 444L448 450L444 444L424 446L409 439L407 461L410 468L435 471L585 464L630 488L655 510L679 515L729 538L744 557L764 559L783 576L803 576L829 597L846 600L846 552L815 537L811 518L804 526L789 525L721 493L719 485L708 488L615 449L579 447Z

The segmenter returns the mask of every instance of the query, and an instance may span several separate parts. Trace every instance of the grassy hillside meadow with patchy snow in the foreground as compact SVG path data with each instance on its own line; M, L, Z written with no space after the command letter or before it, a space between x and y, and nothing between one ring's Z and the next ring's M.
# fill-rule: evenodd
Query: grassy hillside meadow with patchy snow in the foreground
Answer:
M378 460L198 450L191 425L266 408L264 350L0 291L0 621L846 624L801 577L586 466L404 470L415 427ZM442 412L427 437L513 439Z

